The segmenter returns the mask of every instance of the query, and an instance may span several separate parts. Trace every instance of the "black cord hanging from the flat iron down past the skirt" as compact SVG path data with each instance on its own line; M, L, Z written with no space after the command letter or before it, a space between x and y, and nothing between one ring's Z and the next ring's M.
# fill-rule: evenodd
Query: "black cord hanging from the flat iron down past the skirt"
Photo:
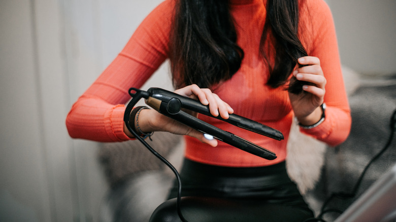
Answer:
M183 222L188 222L182 212L181 212L181 179L180 179L180 175L179 172L176 170L176 168L170 163L168 162L167 159L163 158L160 154L158 154L142 137L140 137L135 130L133 130L128 122L125 122L126 128L129 130L130 133L132 133L141 143L143 143L144 146L146 146L146 148L152 153L154 154L154 156L156 156L159 160L161 160L164 164L166 164L169 168L171 168L171 170L173 171L173 173L175 173L176 179L177 179L177 183L178 183L178 191L177 191L177 201L176 201L176 208L177 208L177 213L179 214L180 219Z

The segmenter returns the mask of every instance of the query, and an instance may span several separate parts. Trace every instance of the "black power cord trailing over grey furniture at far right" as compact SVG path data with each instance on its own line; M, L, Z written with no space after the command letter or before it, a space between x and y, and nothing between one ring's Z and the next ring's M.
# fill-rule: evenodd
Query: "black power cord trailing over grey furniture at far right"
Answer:
M325 210L325 208L327 207L327 205L334 199L334 198L340 198L340 199L351 199L354 198L357 194L357 191L361 185L361 181L363 180L367 170L369 169L369 167L378 159L382 156L382 154L389 148L390 144L392 143L393 140L393 136L394 136L394 132L395 132L395 128L396 128L396 109L393 110L393 114L390 118L390 136L388 138L387 143L385 144L385 146L382 148L382 150L375 155L370 161L369 163L366 165L365 169L362 171L362 173L360 174L359 178L357 179L357 182L352 190L351 193L343 193L343 192L339 192L339 193L332 193L332 195L330 197L328 197L321 209L320 209L320 214L316 217L316 218L309 218L304 220L303 222L308 222L308 221L321 221L321 222L326 222L322 217L324 214L329 213L329 212L336 212L339 214L342 214L343 211L338 210L338 209L327 209Z

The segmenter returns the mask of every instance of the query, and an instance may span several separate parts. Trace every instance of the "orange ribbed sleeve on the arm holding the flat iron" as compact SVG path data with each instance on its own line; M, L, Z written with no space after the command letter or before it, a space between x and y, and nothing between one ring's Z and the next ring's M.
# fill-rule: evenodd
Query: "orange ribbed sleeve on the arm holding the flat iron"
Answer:
M173 5L166 1L154 9L100 77L74 103L66 125L73 138L124 141L128 89L140 88L168 57Z

